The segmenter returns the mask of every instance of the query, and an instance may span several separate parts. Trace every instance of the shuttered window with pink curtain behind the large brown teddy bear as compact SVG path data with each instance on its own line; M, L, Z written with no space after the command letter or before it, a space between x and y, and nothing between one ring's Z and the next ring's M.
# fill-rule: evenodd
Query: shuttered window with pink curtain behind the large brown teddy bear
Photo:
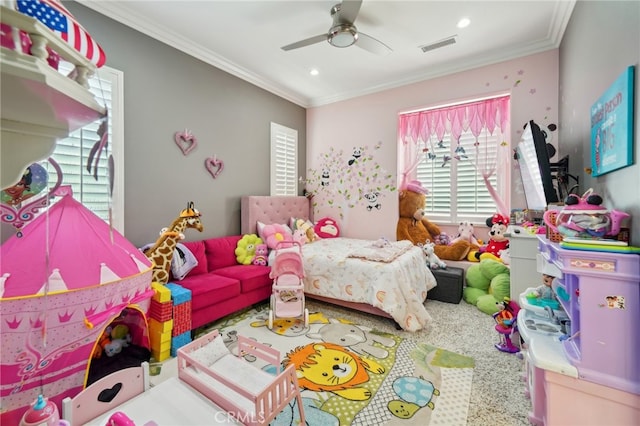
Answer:
M431 220L508 215L510 97L500 94L399 115L398 170L429 190Z

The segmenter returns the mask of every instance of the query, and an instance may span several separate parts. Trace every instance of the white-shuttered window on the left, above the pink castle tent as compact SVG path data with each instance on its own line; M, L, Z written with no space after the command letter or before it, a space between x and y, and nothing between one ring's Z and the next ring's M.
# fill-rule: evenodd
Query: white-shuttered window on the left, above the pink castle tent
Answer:
M72 66L61 62L59 70L68 74ZM109 141L97 162L97 179L94 164L87 171L89 153L99 140L97 120L72 132L68 138L58 140L52 158L60 165L63 185L71 185L73 197L96 215L109 221L109 205L112 208L112 224L119 232L124 231L124 126L123 126L123 73L102 67L89 81L89 90L98 103L104 103L109 111ZM105 152L106 151L106 152ZM97 154L96 154L97 155ZM109 196L108 157L115 164L113 195ZM110 203L111 199L111 203Z

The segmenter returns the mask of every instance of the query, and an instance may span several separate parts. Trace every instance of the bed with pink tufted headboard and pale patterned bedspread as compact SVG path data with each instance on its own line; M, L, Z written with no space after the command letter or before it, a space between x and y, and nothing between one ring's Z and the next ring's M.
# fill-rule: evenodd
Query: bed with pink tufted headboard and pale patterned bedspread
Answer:
M288 224L292 217L310 217L306 197L245 196L241 205L242 234L254 234L257 222ZM392 318L417 331L430 322L424 307L436 280L422 250L408 242L376 247L374 241L328 238L302 247L305 294L340 306Z

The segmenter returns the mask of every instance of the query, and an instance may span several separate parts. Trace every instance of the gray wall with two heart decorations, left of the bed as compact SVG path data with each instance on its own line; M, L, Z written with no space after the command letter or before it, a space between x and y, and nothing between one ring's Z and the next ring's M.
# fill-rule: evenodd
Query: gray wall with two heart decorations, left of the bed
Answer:
M65 3L66 4L66 3ZM204 231L187 240L240 233L240 197L269 195L270 122L298 130L299 175L306 170L304 108L194 59L78 3L66 4L124 72L125 236L153 242L187 202ZM184 156L175 132L198 146ZM213 179L207 157L224 161Z

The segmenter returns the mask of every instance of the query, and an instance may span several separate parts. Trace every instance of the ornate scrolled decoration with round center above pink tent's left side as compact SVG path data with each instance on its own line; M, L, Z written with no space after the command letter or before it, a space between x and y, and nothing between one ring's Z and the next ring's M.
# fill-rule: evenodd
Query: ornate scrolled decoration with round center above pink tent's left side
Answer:
M49 158L49 163L56 171L57 180L55 185L46 195L33 199L41 193L47 186L49 174L46 169L38 163L33 163L25 170L22 179L12 187L5 188L0 192L0 220L11 224L17 230L17 237L22 237L22 228L32 221L38 211L49 205L50 199L62 183L62 170L53 158ZM27 204L26 200L33 199Z

